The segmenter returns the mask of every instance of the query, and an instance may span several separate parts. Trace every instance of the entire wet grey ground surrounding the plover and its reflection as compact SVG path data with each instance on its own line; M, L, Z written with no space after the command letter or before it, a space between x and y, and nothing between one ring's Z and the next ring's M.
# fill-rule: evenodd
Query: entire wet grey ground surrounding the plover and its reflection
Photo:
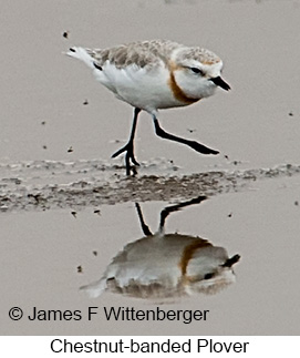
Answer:
M27 1L0 14L2 335L299 335L299 1ZM189 19L186 21L185 19ZM242 21L240 21L242 19ZM68 38L63 32L68 32ZM201 156L138 123L141 168L126 177L111 154L130 132L132 109L102 89L73 44L108 47L168 38L207 47L225 61L232 91L161 112L172 133L216 147ZM152 232L206 238L238 254L236 283L215 295L166 301L80 287ZM8 311L81 310L81 320L11 321ZM99 306L89 321L86 309ZM107 321L103 307L209 310L206 321Z

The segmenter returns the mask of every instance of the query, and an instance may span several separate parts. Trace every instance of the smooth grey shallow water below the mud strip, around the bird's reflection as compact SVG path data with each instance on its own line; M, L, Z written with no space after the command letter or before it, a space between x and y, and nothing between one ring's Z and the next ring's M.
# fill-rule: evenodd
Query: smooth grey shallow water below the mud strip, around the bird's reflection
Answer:
M176 334L178 330L193 334L195 329L206 335L297 334L296 272L300 246L296 191L299 185L298 175L256 181L247 190L215 195L169 215L166 233L201 237L224 247L229 256L241 256L234 267L236 282L208 296L194 293L190 297L152 299L144 296L142 299L107 291L91 299L80 290L81 286L100 279L125 245L143 237L131 201L97 206L100 212L86 205L74 214L71 205L44 212L1 214L4 227L1 282L6 287L2 309L18 305L31 315L35 306L39 309L80 309L85 315L81 321L55 321L51 327L43 321L29 325L21 320L18 334L127 335L128 329L131 334ZM145 222L153 232L158 228L159 213L165 206L164 202L141 203ZM99 307L97 319L87 321L89 306ZM157 306L165 310L206 309L210 314L205 323L164 321L157 324L157 328L152 320L106 321L103 313L104 307L145 310ZM8 321L3 334L12 331L15 333L15 323Z

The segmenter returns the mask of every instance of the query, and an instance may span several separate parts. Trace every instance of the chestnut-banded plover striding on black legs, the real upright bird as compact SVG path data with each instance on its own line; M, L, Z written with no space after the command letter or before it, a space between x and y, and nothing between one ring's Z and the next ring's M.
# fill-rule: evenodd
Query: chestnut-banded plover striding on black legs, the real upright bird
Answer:
M203 154L218 154L198 142L164 131L157 119L158 110L189 105L215 93L217 86L230 89L220 76L223 61L214 52L198 47L186 47L168 40L132 42L108 49L73 47L70 57L87 64L96 80L112 91L118 100L134 108L128 143L113 154L126 152L126 174L134 156L134 135L138 113L148 112L158 136L188 145Z

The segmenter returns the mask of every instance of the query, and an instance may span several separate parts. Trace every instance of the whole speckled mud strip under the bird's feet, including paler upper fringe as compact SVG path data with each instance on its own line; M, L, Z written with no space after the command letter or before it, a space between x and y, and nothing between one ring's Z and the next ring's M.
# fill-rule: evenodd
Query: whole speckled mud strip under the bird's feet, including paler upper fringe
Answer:
M161 166L162 170L159 164L157 167ZM153 173L155 166L151 167ZM165 172L164 175L130 177L124 175L124 170L116 165L110 167L100 161L8 164L2 166L2 171L10 175L13 172L13 177L2 175L0 211L82 209L134 201L188 200L198 195L245 191L252 182L291 177L300 173L300 166L291 164L273 168L210 171L189 175L180 175L177 168L169 165L168 173ZM147 172L147 168L142 172ZM73 181L77 177L81 178Z

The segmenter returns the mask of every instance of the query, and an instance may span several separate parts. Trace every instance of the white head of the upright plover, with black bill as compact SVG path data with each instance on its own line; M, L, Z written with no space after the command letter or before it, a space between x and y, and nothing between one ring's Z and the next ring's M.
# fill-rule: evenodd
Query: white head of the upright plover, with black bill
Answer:
M214 52L200 48L179 48L174 51L169 69L176 84L190 99L213 95L219 86L230 90L221 79L223 61Z

